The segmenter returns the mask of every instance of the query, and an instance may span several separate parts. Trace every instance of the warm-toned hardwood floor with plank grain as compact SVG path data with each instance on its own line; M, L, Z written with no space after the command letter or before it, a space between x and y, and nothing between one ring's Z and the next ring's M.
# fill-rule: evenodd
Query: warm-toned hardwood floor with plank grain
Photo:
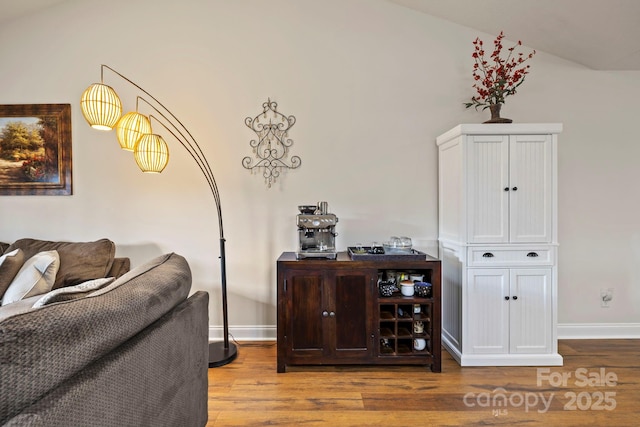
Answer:
M640 340L562 340L558 367L294 367L276 344L240 343L209 369L207 426L633 426ZM500 406L502 405L502 406Z

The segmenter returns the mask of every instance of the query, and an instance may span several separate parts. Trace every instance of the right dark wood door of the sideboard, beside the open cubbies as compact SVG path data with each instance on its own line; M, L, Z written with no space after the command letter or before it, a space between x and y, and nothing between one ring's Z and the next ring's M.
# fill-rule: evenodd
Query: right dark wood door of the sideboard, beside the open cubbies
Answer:
M361 357L373 350L372 281L372 273L336 272L329 312L329 320L334 313L335 322L330 321L328 327L333 329L330 335L335 337L332 347L337 357Z

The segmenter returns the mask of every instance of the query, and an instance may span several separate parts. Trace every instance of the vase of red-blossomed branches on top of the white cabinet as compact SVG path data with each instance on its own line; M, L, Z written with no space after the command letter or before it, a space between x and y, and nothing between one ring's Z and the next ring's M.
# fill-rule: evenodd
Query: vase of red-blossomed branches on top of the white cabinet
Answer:
M505 98L516 93L516 89L524 82L525 76L529 73L529 64L525 62L535 55L532 51L528 55L516 52L516 48L522 45L518 41L507 49L506 57L503 57L502 39L504 33L501 31L493 42L493 52L487 59L482 40L476 37L473 41L474 51L471 55L473 64L473 88L476 95L471 97L471 102L464 105L483 110L487 108L491 111L491 119L484 123L511 123L511 119L500 116L500 109L505 102Z

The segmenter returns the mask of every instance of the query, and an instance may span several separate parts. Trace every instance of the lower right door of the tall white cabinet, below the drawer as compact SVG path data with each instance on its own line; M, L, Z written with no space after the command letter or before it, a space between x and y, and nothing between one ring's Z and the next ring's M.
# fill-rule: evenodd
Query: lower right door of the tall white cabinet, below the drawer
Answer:
M512 269L510 297L510 352L550 353L551 269Z

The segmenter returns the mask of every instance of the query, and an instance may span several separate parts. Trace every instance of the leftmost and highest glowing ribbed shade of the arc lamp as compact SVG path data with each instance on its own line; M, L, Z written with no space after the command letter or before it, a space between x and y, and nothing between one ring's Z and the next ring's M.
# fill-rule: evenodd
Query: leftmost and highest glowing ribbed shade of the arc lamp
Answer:
M80 98L80 108L85 120L98 130L111 130L122 115L122 102L118 94L102 83L94 83Z

